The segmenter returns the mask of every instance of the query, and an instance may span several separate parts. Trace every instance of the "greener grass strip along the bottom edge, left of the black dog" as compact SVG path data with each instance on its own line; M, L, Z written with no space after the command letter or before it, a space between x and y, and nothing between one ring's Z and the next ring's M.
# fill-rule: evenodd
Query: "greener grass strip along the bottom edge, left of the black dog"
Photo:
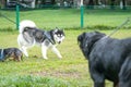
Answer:
M17 77L1 77L1 87L68 87L70 83L53 77L40 77L40 76L17 76Z

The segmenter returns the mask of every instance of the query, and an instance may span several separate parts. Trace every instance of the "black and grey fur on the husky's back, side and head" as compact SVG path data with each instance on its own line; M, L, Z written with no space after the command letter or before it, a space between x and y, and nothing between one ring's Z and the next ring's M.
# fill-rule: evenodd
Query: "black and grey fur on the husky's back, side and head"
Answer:
M55 30L58 32L55 32ZM24 39L29 44L34 41L41 44L45 39L48 39L52 45L56 44L55 38L53 38L53 34L61 34L64 35L63 30L59 29L59 28L55 28L51 30L41 30L39 28L36 27L25 27L25 29L23 30L23 37ZM27 39L29 37L29 40Z

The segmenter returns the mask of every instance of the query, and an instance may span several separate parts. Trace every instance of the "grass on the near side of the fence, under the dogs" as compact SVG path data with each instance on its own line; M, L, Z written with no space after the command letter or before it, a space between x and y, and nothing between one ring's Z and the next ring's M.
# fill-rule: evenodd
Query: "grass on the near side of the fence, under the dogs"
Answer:
M40 48L29 49L29 58L21 62L7 60L0 63L0 86L11 87L91 87L93 82L90 77L87 61L84 59L76 42L76 37L85 30L66 30L66 40L58 46L63 58L59 60L50 50L48 60L41 58ZM100 30L110 34L112 30ZM126 38L131 36L130 29L121 29L112 37ZM0 46L17 47L17 32L0 33ZM7 38L10 42L7 44ZM36 58L34 55L37 55ZM106 82L107 87L112 84Z

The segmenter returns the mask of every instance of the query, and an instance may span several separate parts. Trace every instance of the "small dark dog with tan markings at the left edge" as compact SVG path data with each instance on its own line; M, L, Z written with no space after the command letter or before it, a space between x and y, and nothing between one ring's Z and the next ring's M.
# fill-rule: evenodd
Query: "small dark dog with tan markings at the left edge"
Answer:
M23 53L17 48L0 49L0 61L4 61L8 58L13 58L14 61L21 61Z

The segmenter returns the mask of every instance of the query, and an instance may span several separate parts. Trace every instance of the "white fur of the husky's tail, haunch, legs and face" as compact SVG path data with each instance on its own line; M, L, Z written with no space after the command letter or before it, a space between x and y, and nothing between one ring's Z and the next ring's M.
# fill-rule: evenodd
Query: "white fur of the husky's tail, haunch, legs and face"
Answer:
M26 42L26 40L23 38L23 35L22 35L22 32L24 30L24 27L36 27L36 24L32 21L22 21L20 23L20 35L17 36L17 44L19 44L19 47L20 47L20 50L26 55L28 57L28 53L27 53L27 49L28 48L32 48L34 45L37 45L37 42L35 42L35 39L34 39L34 42L33 44L28 44ZM57 39L57 37L55 36L55 39ZM62 38L63 39L63 38ZM62 40L60 39L60 41ZM46 46L46 40L40 45L41 46L41 53L43 53L43 58L44 59L48 59L47 58L47 50L48 48L51 48L52 52L55 52L58 58L62 58L62 55L60 54L59 50L56 48L56 45L52 45L51 42Z

